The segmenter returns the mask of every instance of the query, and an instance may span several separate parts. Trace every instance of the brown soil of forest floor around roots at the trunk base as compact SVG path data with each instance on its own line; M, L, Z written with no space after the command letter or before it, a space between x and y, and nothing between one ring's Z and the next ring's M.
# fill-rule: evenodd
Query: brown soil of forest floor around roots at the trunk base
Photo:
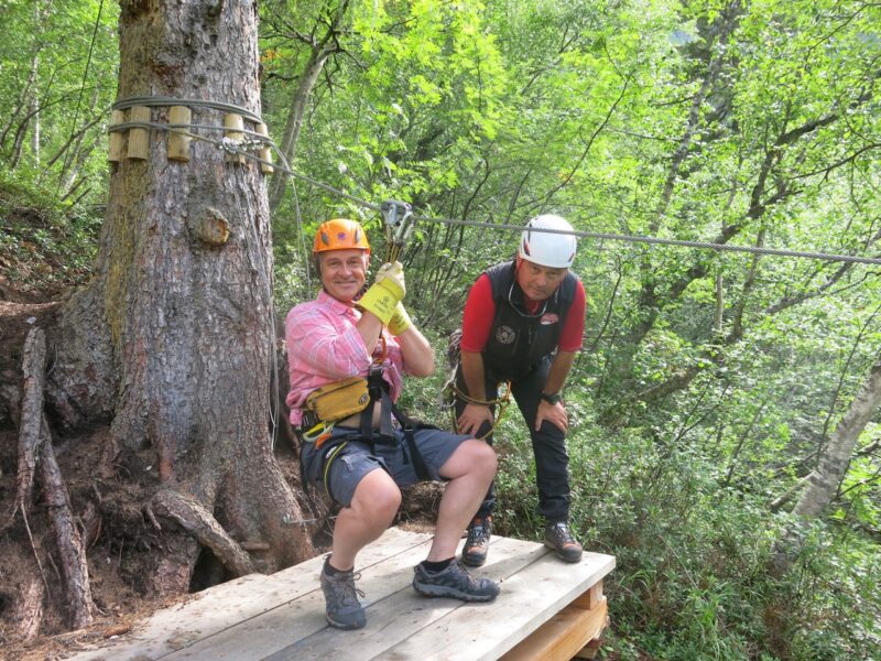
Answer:
M149 499L154 479L149 476L105 475L96 472L109 433L107 425L77 430L64 435L52 431L53 448L69 494L74 518L88 549L88 573L95 603L91 626L74 631L62 615L64 592L54 559L50 507L42 498L40 479L34 498L23 513L14 512L19 474L18 410L21 399L21 357L24 339L34 325L52 323L64 299L65 283L52 286L17 286L9 278L14 256L0 243L0 659L36 661L64 659L85 643L120 636L159 608L184 602L188 594L153 597L145 594L141 567L155 533L144 520L142 505ZM19 264L21 266L21 264ZM67 283L70 286L77 282ZM50 355L51 369L51 355ZM52 422L50 421L50 426ZM291 484L298 473L289 448L279 462ZM439 492L436 485L423 485L405 494L399 524L411 530L433 525ZM100 502L100 513L94 502ZM112 512L108 516L108 512ZM317 538L316 552L325 552L327 537ZM142 559L139 561L139 554ZM204 586L203 586L204 587ZM25 594L34 595L22 599ZM30 615L22 603L42 611L40 628L22 635L22 621Z

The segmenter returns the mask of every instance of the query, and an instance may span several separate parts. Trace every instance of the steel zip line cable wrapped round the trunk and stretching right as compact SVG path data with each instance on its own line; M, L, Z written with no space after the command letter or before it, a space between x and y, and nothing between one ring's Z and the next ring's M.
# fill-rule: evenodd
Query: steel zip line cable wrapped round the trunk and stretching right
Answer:
M237 106L231 106L229 104L219 104L216 101L202 101L198 99L178 99L172 97L132 97L126 99L123 101L119 101L113 105L113 109L122 109L122 108L130 108L131 106L170 106L170 105L189 105L189 106L203 106L218 110L225 111L235 111L239 115L244 115L248 119L260 123L260 117L244 110L243 108L239 108ZM309 177L305 174L294 171L291 165L287 163L282 151L279 147L267 136L258 133L257 131L249 131L247 129L237 129L237 132L243 133L249 137L246 141L233 141L227 138L222 140L216 140L214 138L207 138L205 136L198 136L196 133L191 132L188 129L205 129L205 130L214 130L214 131L226 131L228 130L225 127L218 127L213 124L178 124L178 123L157 123L157 122L137 122L137 121L129 121L124 123L118 123L110 127L111 131L121 131L129 128L148 128L148 129L157 129L162 131L173 131L177 133L182 133L188 138L193 138L195 140L202 140L205 142L209 142L215 144L218 149L224 149L229 151L230 153L240 154L255 161L258 163L262 163L265 165L272 165L276 167L282 173L286 174L287 176L298 178L308 183L312 186L316 186L326 191L337 197L348 199L349 202L355 203L356 205L370 209L372 212L381 213L381 205L367 202L366 199L361 199L355 195L346 193L345 191L340 191L339 188L335 188L328 184L319 182L313 177ZM279 154L279 158L282 161L282 164L275 164L271 161L267 161L261 159L257 154L251 153L248 151L251 148L255 147L264 147L269 145L272 148L275 153ZM244 148L244 149L243 149ZM302 219L300 218L298 212L298 199L296 201L297 206L297 224L301 228L302 234ZM523 227L518 225L507 225L507 224L497 224L497 223L485 223L479 220L460 220L457 218L439 218L433 216L418 216L413 215L412 219L415 221L422 223L437 223L442 225L450 225L450 226L464 226L464 227L475 227L475 228L482 228L482 229L493 229L493 230L503 230L503 231L513 231L513 232L522 232ZM836 254L829 252L816 252L816 251L806 251L806 250L788 250L785 248L764 248L758 246L732 246L729 243L715 243L710 241L690 241L684 239L666 239L661 237L649 237L649 236L639 236L639 235L621 235L621 234L612 234L612 232L597 232L597 231L579 231L579 230L559 230L559 229L544 229L544 228L532 228L531 231L537 232L547 232L547 234L565 234L572 235L578 238L585 239L596 239L599 241L622 241L622 242L630 242L630 243L648 243L648 245L655 245L655 246L674 246L679 248L695 248L699 250L715 250L717 252L746 252L750 254L768 254L773 257L786 257L786 258L798 258L798 259L816 259L823 261L836 261L836 262L847 262L847 263L861 263L861 264L881 264L881 257L860 257L853 254Z

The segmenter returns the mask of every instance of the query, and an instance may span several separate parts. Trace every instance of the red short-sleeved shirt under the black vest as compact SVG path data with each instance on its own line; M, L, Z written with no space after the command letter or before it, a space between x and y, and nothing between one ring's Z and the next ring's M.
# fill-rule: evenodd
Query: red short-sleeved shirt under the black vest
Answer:
M532 313L539 310L541 301L523 296L526 311ZM585 333L585 288L578 280L575 284L575 297L566 321L559 330L561 351L577 351L581 348L581 337ZM479 354L487 346L489 334L492 330L492 319L496 317L496 302L492 300L492 284L489 275L481 274L471 285L468 300L465 302L465 313L461 319L463 351Z

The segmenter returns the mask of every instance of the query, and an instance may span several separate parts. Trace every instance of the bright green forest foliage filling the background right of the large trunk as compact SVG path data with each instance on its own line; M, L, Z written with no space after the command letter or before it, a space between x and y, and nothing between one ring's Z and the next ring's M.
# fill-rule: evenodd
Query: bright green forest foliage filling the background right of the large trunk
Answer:
M424 216L520 225L555 210L600 232L877 251L877 8L426 0L349 11L294 163L319 181ZM313 19L291 15L303 33ZM289 66L275 71L295 78L305 51L284 46ZM270 108L285 108L281 80L267 84ZM296 193L303 227L293 195L275 219L282 296L312 294L300 246L324 218L366 221L382 259L372 212L302 183ZM404 259L421 327L444 337L457 325L467 288L514 241L420 224ZM875 279L834 262L590 240L575 270L589 306L567 390L573 523L618 557L611 653L871 655L879 632L848 630L861 621L852 605L790 594L798 572L775 581L766 566L790 524L769 503L816 465L874 360ZM445 424L442 382L411 381L406 408ZM537 539L523 427L512 405L496 434L498 525ZM858 582L877 563L878 466L856 458L831 510L830 530L861 540L859 560L844 563L833 535L812 549L818 575Z

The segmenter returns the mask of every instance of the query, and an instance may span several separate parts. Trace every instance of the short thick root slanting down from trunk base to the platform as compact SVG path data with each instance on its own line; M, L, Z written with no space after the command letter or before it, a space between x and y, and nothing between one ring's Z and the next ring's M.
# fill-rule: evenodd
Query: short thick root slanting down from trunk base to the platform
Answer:
M178 491L162 489L151 502L156 513L174 519L236 576L257 571L250 555L230 538L217 519L197 500Z

